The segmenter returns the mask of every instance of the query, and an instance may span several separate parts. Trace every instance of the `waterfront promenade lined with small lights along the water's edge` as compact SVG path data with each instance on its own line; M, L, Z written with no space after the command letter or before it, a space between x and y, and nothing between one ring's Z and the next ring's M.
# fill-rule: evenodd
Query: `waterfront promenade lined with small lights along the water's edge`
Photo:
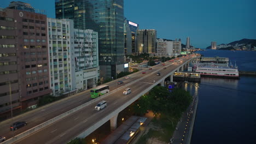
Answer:
M170 143L173 144L189 144L193 132L194 121L196 116L198 97L193 96L193 101L189 105L187 111L185 111L178 122L176 130L173 133L173 137Z

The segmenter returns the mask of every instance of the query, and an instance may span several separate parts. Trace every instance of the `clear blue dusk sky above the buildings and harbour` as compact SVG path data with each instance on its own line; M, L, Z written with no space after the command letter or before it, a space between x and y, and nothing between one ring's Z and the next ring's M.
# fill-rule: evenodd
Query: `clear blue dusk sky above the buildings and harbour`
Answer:
M13 0L1 0L5 8ZM55 18L54 0L24 0ZM205 49L211 41L226 44L256 39L255 0L124 0L124 16L139 29L156 29L158 38L181 38L185 44Z

